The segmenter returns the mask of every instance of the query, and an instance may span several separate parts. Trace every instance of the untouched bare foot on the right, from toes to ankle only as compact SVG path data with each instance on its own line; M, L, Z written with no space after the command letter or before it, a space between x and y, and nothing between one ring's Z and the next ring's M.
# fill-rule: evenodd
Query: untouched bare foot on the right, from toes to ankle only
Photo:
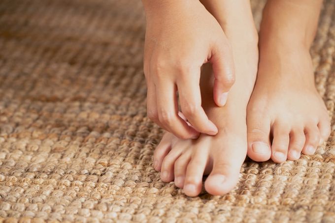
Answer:
M248 157L254 161L282 163L298 160L301 153L313 155L330 134L308 49L286 47L278 44L260 53L247 109Z

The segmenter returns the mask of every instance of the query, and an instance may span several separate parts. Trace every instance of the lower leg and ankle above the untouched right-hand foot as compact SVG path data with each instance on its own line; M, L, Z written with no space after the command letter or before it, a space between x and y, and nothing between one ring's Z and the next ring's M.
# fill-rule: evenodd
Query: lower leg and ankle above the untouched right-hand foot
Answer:
M260 41L275 37L283 44L309 49L316 33L320 0L268 0L261 23Z

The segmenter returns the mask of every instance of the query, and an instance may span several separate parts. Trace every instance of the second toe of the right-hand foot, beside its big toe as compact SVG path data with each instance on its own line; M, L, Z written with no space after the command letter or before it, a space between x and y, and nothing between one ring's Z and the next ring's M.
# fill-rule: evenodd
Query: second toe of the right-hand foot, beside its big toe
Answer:
M287 126L276 123L273 125L271 159L275 163L285 162L287 158L287 150L290 142L290 129Z

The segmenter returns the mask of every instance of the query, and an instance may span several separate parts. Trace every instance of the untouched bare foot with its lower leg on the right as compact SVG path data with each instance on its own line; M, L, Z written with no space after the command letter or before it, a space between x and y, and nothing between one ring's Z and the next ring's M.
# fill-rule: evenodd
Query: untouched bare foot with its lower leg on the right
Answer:
M330 135L309 54L321 4L268 0L264 9L259 70L247 108L248 156L255 161L298 160Z

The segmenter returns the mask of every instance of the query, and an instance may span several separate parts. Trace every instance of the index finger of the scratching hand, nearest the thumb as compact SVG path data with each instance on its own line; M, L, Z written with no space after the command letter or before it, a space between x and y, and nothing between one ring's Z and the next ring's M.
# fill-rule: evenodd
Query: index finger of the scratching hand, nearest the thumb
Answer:
M181 111L195 130L208 135L216 135L217 127L211 122L201 107L200 69L199 78L177 81ZM189 76L189 75L188 75Z

